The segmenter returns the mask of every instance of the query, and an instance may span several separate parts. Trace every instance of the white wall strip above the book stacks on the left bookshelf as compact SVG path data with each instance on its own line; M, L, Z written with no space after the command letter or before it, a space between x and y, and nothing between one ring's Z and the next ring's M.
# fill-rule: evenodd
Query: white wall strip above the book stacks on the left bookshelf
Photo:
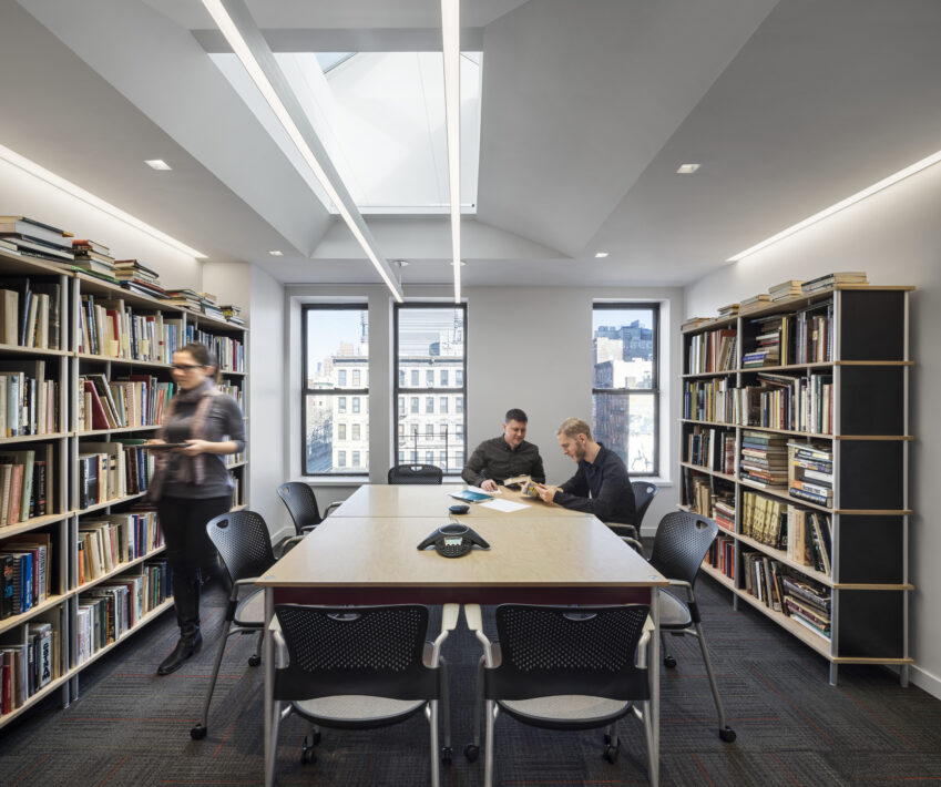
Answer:
M3 160L0 160L0 216L29 216L75 237L96 241L111 248L115 259L140 259L152 267L160 273L164 287L202 288L200 260ZM137 218L146 221L146 216Z

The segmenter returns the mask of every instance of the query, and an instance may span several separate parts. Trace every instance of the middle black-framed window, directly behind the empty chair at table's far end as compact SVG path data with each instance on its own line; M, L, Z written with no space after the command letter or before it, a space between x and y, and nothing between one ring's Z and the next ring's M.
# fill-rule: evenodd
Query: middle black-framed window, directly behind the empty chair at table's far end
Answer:
M409 398L405 412L399 399L398 420L405 420L408 452L425 457L447 473L463 468L466 413L463 412L467 307L463 305L407 304L395 307L396 397ZM437 371L436 371L437 370ZM408 372L408 374L406 374ZM409 385L405 385L405 380ZM420 381L425 385L420 386ZM438 384L436 386L436 382ZM423 406L419 400L425 397ZM461 403L458 403L458 397ZM429 417L437 415L433 423ZM437 429L434 423L438 425ZM436 436L437 431L437 436Z

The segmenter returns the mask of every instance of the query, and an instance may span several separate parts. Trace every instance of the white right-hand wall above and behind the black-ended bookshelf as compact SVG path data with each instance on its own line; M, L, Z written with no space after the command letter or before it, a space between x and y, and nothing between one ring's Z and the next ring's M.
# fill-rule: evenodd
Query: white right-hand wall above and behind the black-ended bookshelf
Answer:
M941 697L941 166L934 165L797 235L686 288L686 314L715 309L788 278L833 270L865 270L871 284L916 285L911 296L909 529L912 679ZM756 238L758 241L759 238ZM873 315L878 319L878 315Z

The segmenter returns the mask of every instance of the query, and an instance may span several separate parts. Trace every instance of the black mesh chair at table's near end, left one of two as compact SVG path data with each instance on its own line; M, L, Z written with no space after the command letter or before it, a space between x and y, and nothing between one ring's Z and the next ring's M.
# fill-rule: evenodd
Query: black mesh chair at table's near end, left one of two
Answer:
M439 757L451 762L447 665L441 645L460 607L446 604L441 633L427 643L428 607L303 606L278 604L269 773L274 773L280 722L296 713L315 725L301 762L313 762L318 727L374 729L423 712L429 724L431 784L439 787ZM439 701L444 745L438 748Z

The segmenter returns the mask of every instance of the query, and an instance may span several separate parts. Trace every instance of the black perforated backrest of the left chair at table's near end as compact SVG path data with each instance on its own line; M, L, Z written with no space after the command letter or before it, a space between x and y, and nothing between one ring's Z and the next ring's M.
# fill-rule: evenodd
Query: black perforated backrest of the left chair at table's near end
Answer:
M438 696L438 670L422 662L428 607L278 604L275 614L289 657L275 673L276 699Z

